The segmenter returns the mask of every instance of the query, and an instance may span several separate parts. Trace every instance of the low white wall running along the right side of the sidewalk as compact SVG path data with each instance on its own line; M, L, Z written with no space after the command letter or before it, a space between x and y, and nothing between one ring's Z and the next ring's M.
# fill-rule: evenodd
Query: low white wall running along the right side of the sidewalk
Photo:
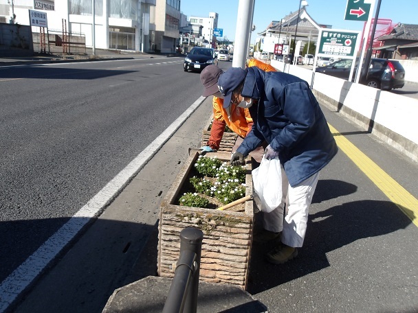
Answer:
M311 84L311 69L275 60L272 60L272 65ZM321 104L338 111L360 128L418 161L418 100L322 73L316 73L313 87Z

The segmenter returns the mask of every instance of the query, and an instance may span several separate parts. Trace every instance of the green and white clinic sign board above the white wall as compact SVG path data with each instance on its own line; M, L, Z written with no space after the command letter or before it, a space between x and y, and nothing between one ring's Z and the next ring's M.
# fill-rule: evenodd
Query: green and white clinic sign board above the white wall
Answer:
M359 32L322 30L320 32L318 54L353 57L358 36Z

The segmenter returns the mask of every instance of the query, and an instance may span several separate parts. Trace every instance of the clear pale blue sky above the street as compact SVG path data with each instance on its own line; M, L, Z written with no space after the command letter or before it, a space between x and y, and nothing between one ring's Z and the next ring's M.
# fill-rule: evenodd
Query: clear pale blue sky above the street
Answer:
M319 24L332 25L338 30L363 30L364 22L344 21L347 0L307 0L307 12ZM236 12L239 0L181 0L181 12L187 16L209 17L209 12L219 14L218 27L223 36L233 40L235 37ZM377 0L375 9L377 7ZM281 18L299 8L299 0L255 0L254 19L256 30L252 34L252 43L257 32L262 32L271 21ZM417 0L381 0L380 19L391 19L393 23L418 24ZM373 17L375 12L373 12Z

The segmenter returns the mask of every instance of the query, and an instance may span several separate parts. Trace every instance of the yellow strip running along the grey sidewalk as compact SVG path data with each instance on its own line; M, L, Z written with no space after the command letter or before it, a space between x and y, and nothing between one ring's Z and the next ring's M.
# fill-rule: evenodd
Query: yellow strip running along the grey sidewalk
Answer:
M377 166L376 163L371 161L369 156L366 156L366 154L361 152L346 137L342 136L336 128L333 128L329 124L328 126L336 139L338 148L347 154L351 161L418 227L417 198L412 196L404 187L399 185L391 176Z

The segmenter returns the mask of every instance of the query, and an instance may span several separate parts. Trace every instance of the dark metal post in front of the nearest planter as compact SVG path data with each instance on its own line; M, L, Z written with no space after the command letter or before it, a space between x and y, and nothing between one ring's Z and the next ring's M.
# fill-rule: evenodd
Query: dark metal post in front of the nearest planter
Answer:
M196 313L203 232L186 227L180 232L180 255L163 313Z

